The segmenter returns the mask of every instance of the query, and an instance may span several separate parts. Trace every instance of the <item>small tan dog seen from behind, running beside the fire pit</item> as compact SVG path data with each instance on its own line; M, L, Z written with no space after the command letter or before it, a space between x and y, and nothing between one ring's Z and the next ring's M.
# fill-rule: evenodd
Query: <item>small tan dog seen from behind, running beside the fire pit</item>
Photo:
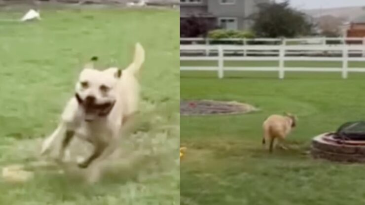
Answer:
M263 123L262 144L269 141L269 150L272 152L275 139L279 140L280 146L284 149L284 139L290 134L292 128L296 126L296 117L292 114L285 113L282 115L271 115Z

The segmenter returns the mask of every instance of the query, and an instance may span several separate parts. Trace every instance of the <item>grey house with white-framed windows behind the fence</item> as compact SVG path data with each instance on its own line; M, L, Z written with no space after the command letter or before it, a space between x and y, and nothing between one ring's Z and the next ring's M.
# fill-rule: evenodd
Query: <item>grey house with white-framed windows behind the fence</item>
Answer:
M265 2L270 0L180 0L180 20L194 16L222 29L246 30L252 25L247 17Z

